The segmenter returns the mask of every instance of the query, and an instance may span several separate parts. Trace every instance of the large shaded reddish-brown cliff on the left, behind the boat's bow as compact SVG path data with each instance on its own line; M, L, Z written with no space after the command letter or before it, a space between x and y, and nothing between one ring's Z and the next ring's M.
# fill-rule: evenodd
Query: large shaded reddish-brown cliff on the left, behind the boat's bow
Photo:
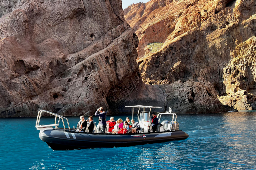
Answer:
M111 113L143 85L121 0L3 0L0 11L0 117Z

